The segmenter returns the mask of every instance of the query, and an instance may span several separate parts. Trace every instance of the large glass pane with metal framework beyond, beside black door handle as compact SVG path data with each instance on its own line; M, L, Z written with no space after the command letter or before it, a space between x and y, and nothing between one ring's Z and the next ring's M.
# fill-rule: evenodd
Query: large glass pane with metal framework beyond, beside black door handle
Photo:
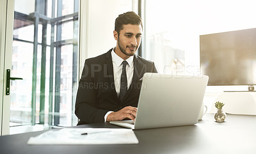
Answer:
M10 134L76 125L79 0L14 6Z

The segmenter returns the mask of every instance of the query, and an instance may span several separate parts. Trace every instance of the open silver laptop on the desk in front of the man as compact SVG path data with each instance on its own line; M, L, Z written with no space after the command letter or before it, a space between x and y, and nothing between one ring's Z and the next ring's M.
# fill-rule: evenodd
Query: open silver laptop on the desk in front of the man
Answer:
M208 76L145 73L136 120L110 122L130 129L194 125L204 99Z

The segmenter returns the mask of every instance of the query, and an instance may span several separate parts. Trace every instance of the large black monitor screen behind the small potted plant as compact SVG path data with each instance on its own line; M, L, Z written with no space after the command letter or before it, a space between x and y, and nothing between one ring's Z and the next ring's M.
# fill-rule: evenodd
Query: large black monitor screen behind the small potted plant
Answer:
M256 28L200 36L208 85L256 85Z

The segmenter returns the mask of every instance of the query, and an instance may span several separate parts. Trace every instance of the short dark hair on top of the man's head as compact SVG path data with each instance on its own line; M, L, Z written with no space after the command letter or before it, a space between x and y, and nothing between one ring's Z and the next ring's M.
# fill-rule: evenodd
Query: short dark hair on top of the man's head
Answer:
M118 15L115 21L115 31L118 33L124 29L123 25L141 25L141 28L143 29L142 26L142 19L140 16L138 16L134 11L128 11L126 13L123 13L121 15Z

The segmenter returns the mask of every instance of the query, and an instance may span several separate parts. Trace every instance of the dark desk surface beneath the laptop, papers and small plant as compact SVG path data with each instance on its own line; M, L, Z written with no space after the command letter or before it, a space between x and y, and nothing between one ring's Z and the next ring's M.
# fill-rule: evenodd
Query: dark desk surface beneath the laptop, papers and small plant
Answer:
M77 127L120 128L109 123ZM124 145L28 145L29 137L44 131L0 137L0 153L256 153L256 116L227 115L214 122L206 114L196 125L134 130L139 144Z

